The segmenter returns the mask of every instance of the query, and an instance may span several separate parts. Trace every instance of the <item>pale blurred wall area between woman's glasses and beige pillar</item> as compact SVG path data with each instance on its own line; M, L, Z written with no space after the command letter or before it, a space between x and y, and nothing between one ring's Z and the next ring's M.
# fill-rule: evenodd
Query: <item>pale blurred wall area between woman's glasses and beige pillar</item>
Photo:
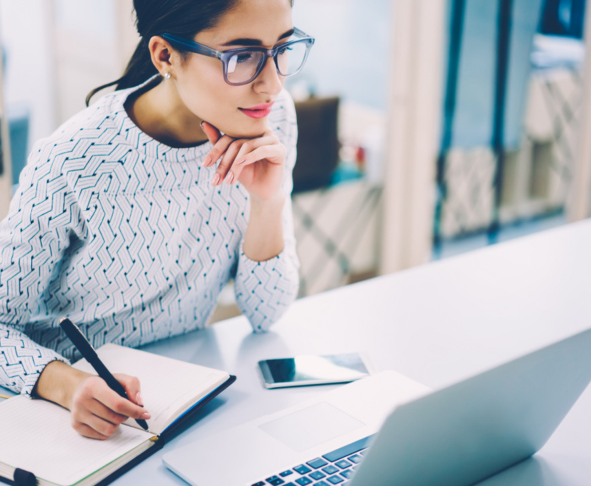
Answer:
M298 76L319 96L339 94L346 101L387 112L393 4L392 0L295 0L294 25L316 37Z

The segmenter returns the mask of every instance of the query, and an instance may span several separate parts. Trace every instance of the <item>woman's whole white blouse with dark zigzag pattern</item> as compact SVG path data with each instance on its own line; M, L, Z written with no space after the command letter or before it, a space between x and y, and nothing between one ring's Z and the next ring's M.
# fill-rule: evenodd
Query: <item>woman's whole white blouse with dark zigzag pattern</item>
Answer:
M171 148L142 132L124 109L140 87L103 96L37 142L0 223L0 385L15 392L30 396L50 361L80 357L61 317L95 347L137 347L203 328L230 278L254 331L296 297L289 94L269 115L288 154L285 246L254 262L242 252L248 192L210 185L215 166L201 167L209 142Z

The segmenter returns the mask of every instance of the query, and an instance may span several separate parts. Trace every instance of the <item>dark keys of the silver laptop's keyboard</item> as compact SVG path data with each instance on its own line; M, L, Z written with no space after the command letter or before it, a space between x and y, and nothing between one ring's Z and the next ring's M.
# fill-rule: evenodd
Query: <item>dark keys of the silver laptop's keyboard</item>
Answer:
M252 486L345 486L362 461L368 442L373 437L370 435L329 454L278 472L264 481L255 482Z

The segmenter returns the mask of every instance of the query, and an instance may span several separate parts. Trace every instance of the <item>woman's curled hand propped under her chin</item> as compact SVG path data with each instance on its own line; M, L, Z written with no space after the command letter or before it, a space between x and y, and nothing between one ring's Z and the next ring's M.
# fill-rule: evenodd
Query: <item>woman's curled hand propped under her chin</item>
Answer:
M282 198L281 184L285 171L287 149L271 129L257 138L243 139L223 135L207 122L202 128L213 148L203 159L210 167L222 157L212 185L241 182L252 198L273 201Z

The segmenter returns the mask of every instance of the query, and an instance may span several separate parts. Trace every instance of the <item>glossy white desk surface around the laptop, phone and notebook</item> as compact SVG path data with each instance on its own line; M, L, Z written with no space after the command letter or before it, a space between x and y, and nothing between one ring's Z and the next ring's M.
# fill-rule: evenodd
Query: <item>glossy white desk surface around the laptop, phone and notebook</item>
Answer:
M115 485L186 484L164 452L294 405L333 386L266 390L258 360L367 351L441 387L590 327L591 220L300 299L262 335L243 317L144 349L228 370L238 380L202 419ZM591 387L533 458L482 482L588 485Z

